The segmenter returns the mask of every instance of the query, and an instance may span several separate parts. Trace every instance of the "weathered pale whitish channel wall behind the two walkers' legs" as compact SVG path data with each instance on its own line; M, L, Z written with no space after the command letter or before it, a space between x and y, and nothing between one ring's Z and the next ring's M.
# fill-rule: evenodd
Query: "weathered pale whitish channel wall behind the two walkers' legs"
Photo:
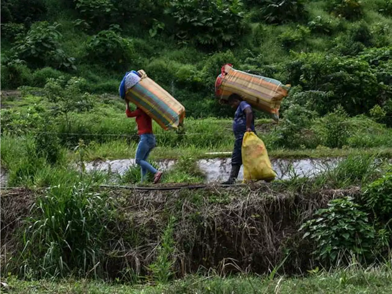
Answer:
M293 177L312 177L327 169L336 167L339 159L273 159L271 160L272 168L278 174L281 180L288 180ZM158 162L163 171L173 168L175 161L163 160ZM129 167L135 164L131 160L107 160L105 162L93 162L86 165L87 171L111 171L113 173L124 174ZM230 158L226 159L203 159L198 161L198 166L205 173L205 182L226 180L230 173ZM238 180L243 178L243 167L241 167Z

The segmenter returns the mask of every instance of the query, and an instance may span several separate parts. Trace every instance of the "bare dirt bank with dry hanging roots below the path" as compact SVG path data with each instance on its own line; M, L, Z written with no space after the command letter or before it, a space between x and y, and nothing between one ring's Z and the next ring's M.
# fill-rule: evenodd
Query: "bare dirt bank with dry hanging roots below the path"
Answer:
M210 268L265 273L288 252L281 270L286 274L306 272L312 248L302 240L298 228L332 198L358 193L355 188L310 192L264 184L172 191L106 188L104 195L114 199L119 217L111 229L116 240L112 236L102 248L107 252L107 260L102 262L111 277L126 266L148 274L145 266L156 260L156 247L168 219L175 216L171 258L179 277ZM34 197L34 192L23 189L1 192L0 260L5 247L16 248L13 236Z

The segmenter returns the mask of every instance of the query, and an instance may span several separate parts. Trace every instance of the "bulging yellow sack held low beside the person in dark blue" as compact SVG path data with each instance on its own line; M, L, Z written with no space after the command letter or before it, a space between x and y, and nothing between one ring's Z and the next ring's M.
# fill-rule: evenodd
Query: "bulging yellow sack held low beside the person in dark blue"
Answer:
M254 132L246 132L242 140L243 183L250 180L272 181L276 173L271 167L264 142Z

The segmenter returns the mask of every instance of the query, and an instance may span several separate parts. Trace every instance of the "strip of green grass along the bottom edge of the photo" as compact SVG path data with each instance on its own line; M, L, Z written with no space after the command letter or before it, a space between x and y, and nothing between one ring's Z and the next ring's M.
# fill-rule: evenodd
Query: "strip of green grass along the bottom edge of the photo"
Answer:
M239 276L191 276L174 283L158 286L118 285L100 281L20 281L5 279L10 290L17 294L226 294L226 293L276 293L276 294L388 294L392 292L388 269L345 269L336 272L319 272L307 278ZM1 290L0 290L1 291Z

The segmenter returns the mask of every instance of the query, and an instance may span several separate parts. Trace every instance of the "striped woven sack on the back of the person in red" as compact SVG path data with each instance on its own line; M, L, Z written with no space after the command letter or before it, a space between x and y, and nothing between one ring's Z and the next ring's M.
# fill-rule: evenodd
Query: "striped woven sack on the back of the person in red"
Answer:
M138 75L140 82L127 89L125 99L147 113L162 129L177 130L183 124L185 107L143 70Z

